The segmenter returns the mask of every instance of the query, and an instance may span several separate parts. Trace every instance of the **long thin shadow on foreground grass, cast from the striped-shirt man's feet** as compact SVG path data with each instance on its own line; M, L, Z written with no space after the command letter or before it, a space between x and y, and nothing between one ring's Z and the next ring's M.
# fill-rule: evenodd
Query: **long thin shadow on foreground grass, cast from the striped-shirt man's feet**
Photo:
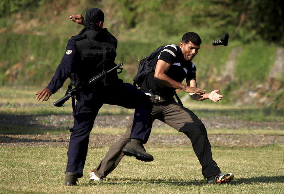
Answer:
M88 185L132 185L132 184L160 184L160 185L173 185L173 186L190 186L190 185L204 185L207 184L207 181L204 180L189 180L185 181L184 179L136 179L136 178L114 178L106 179L103 181L92 181L83 186ZM284 183L284 176L262 176L262 177L252 177L252 178L235 178L228 184L231 185L241 185L241 184L255 184L255 183Z

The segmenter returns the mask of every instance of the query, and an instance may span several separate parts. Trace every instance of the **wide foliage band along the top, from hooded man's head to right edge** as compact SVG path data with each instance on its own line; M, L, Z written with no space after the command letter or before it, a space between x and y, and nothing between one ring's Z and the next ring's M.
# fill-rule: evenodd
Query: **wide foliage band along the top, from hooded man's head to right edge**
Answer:
M144 22L173 34L181 27L207 25L210 28L230 29L232 37L242 42L263 39L284 44L283 0L116 2L115 5L123 7L120 19L128 28Z

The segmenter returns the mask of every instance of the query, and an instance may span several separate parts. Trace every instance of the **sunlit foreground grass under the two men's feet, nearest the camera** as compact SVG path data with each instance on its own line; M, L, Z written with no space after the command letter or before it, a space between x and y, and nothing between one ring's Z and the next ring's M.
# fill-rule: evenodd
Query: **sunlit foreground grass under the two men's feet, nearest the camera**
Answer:
M1 147L1 193L282 193L283 146L250 149L212 148L223 173L235 180L227 185L207 185L192 147L152 147L153 162L124 157L100 182L89 183L90 171L108 151L92 148L77 187L65 187L67 148ZM224 160L226 158L226 160Z

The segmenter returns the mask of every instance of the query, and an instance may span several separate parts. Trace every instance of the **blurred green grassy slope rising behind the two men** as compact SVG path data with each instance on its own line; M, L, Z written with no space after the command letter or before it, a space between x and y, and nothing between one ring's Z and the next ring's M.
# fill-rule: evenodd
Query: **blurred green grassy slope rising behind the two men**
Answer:
M228 96L234 94L234 91L238 94L239 90L254 89L266 82L276 58L277 47L263 42L241 44L234 37L236 27L218 28L216 25L222 21L214 17L202 17L209 1L204 1L203 4L183 1L175 4L164 4L161 1L154 4L147 1L142 4L133 1L131 5L125 2L84 0L80 4L74 4L60 0L41 6L35 11L0 18L3 26L0 29L3 45L0 47L3 56L0 59L0 85L45 87L60 63L67 40L82 28L70 22L68 16L74 13L84 14L91 7L101 7L106 13L104 27L119 40L116 62L124 63L124 71L119 76L126 82L132 83L141 58L160 45L178 45L181 36L187 31L197 32L203 41L200 52L193 61L198 68L197 83L200 87L207 91L221 88ZM190 12L189 7L192 8ZM131 9L138 13L137 17L131 16L134 13L129 11ZM194 25L196 13L200 13L200 21L203 19L199 25ZM218 22L214 24L214 21ZM229 46L213 47L212 40L220 39L224 33L231 34ZM224 67L231 58L232 50L239 47L243 52L237 53L235 70L231 72L235 80L230 83L218 82L217 79L223 77ZM233 97L239 98L237 94ZM277 93L278 99L281 99L282 94L283 91ZM273 95L270 97L276 98ZM233 103L234 98L228 98L226 103L228 102Z

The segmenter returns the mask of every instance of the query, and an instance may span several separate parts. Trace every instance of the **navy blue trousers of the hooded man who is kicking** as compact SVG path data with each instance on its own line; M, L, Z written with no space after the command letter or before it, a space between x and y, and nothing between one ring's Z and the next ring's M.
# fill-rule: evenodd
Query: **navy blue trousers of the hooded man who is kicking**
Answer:
M121 83L116 87L97 90L80 95L73 111L74 125L68 147L66 171L83 176L83 169L88 152L89 135L95 118L103 104L119 105L135 109L131 139L140 139L145 144L152 128L151 111L153 105L150 96L131 84ZM123 126L122 126L123 127Z

